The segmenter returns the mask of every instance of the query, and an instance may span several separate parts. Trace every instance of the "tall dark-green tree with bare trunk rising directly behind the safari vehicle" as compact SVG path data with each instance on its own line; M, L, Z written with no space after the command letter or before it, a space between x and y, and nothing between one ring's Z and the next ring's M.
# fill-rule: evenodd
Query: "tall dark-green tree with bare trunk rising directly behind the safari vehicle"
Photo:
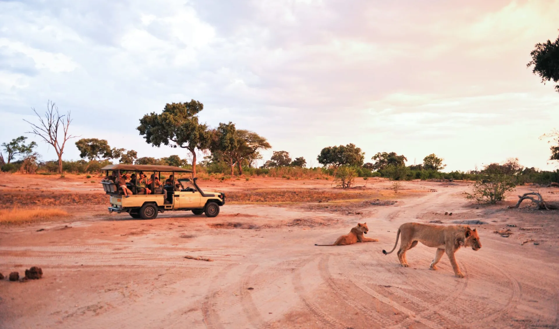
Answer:
M192 176L196 177L196 149L208 149L211 133L206 124L198 122L198 113L203 110L201 102L191 100L184 103L165 105L161 114L151 112L140 119L138 129L146 143L160 147L186 148L192 154Z

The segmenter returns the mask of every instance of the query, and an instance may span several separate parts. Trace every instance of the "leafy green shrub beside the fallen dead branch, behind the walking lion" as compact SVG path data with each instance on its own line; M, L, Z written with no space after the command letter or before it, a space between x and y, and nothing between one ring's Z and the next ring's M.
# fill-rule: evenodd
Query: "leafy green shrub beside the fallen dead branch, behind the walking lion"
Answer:
M481 177L480 177L481 178ZM496 204L505 199L505 192L514 190L512 177L499 173L487 175L473 185L472 194L466 193L466 199L477 203Z

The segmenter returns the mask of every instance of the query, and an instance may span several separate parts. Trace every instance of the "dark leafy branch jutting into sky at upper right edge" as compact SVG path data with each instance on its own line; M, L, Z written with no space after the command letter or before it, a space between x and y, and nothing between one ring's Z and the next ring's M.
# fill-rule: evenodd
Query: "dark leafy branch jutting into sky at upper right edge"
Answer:
M532 72L542 78L542 82L559 81L559 36L554 42L547 40L534 46L534 50L530 52L532 60L527 67L534 66ZM559 84L555 86L559 92Z

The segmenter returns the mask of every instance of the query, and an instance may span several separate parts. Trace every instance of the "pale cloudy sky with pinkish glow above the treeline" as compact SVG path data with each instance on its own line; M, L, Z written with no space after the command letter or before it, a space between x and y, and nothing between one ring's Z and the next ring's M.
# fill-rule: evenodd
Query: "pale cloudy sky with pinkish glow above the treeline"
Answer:
M559 128L559 93L526 64L557 29L551 0L0 1L0 141L52 100L75 135L186 157L136 126L194 99L202 122L268 138L265 158L318 166L321 148L354 143L366 162L436 153L446 171L509 157L554 170L538 137ZM79 159L74 142L64 158Z

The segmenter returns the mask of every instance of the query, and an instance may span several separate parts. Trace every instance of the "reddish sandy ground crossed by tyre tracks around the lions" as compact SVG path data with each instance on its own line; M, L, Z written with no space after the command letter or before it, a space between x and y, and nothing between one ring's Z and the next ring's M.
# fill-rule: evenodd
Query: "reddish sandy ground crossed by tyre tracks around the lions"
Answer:
M91 180L3 175L0 192L7 198L36 186L37 195L98 196L101 188ZM338 191L319 180L200 185L231 193ZM108 214L106 205L70 204L63 206L73 214L66 219L0 227L0 272L23 275L31 266L44 272L40 280L0 281L0 327L559 327L559 212L505 209L532 187L518 187L503 204L476 206L463 198L467 182L404 182L398 194L390 185L369 181L361 190L378 199L349 204L226 204L216 218L171 212L136 220ZM558 199L558 189L539 191ZM430 220L487 223L471 225L480 231L481 250L457 253L466 278L453 276L446 256L430 271L434 248L410 250L408 268L395 253L382 255L394 246L400 224ZM367 236L380 242L314 246L333 242L357 222L367 222ZM493 233L499 229L510 229L510 236ZM534 241L521 245L528 239Z

